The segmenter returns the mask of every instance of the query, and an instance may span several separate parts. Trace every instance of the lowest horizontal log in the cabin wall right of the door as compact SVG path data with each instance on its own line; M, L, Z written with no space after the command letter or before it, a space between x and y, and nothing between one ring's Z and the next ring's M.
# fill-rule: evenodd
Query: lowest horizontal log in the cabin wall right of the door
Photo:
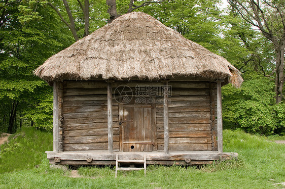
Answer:
M169 144L169 150L211 150L211 144Z

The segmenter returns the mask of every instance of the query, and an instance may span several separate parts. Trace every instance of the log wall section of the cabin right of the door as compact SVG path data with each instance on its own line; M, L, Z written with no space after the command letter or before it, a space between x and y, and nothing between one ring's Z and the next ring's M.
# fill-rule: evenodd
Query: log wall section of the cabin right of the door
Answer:
M212 150L209 82L168 84L169 150ZM163 150L163 104L156 104L156 123L158 150Z

